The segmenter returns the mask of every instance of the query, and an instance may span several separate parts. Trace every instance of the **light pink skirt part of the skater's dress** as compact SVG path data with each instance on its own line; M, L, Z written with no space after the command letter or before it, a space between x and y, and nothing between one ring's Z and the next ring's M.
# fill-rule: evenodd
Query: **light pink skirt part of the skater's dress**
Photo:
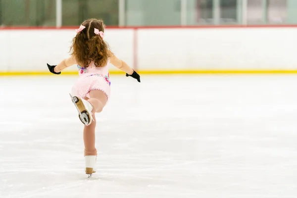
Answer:
M107 100L110 95L110 81L108 76L102 74L93 74L80 76L72 87L72 95L80 98L90 98L90 91L99 90L103 92Z

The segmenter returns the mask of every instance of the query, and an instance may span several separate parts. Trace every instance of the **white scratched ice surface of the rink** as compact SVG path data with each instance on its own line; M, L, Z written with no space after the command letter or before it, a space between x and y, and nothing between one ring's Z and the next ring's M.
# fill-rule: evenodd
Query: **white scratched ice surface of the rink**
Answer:
M75 79L0 78L0 198L297 198L297 76L112 77L91 180Z

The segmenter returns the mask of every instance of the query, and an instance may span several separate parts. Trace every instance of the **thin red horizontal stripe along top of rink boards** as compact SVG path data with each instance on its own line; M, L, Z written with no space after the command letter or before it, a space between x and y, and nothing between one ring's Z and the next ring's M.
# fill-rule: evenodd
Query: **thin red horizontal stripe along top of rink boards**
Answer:
M75 30L78 26L56 27L1 27L1 30ZM106 29L215 29L215 28L297 28L297 25L209 25L209 26L107 26Z

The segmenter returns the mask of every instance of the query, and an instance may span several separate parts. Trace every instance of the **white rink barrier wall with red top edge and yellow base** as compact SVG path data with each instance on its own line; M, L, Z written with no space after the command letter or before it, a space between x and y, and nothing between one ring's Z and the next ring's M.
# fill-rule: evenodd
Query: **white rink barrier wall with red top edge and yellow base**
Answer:
M76 28L0 28L0 76L52 75L46 63L69 56ZM296 34L295 25L107 27L104 39L140 74L296 74Z

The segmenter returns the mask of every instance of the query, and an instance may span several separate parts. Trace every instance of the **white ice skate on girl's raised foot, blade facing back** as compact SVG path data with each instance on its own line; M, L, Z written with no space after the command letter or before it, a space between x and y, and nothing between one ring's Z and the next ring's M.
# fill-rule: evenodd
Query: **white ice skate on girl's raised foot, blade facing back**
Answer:
M70 95L72 102L74 103L76 109L78 110L79 119L86 126L90 125L93 120L93 116L92 116L93 106L92 106L92 104L85 99L78 98L76 96L73 97L73 96L71 96L71 94L69 94L69 95Z

